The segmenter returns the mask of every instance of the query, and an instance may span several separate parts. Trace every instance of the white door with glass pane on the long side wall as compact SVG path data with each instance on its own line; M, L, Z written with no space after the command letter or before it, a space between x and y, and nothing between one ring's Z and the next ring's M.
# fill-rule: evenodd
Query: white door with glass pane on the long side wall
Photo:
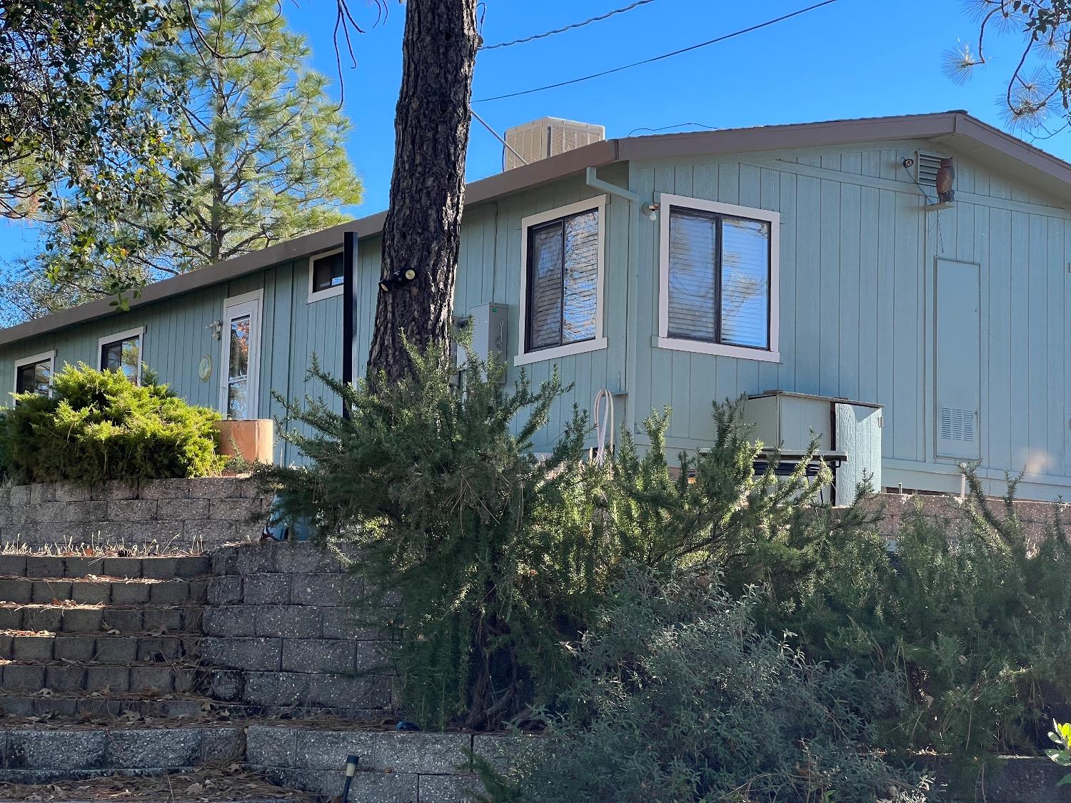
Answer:
M227 299L223 308L220 412L257 418L260 366L260 292Z

